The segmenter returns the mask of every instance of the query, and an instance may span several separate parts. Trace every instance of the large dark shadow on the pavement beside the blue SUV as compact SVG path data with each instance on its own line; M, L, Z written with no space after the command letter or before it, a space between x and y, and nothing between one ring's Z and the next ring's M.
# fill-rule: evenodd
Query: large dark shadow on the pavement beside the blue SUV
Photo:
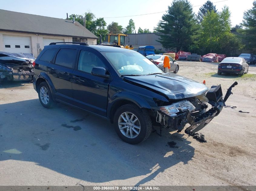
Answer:
M38 99L20 101L0 105L0 112L1 161L30 161L93 183L132 177L137 185L147 183L194 156L182 134L152 133L145 142L129 145L106 119L60 103L46 109Z

